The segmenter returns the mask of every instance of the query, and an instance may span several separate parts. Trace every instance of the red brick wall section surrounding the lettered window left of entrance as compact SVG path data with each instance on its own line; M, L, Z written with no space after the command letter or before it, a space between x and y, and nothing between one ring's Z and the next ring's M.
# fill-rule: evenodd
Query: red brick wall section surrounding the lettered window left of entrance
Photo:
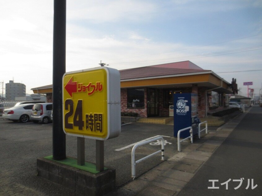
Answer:
M147 88L145 88L144 108L127 108L127 88L121 88L121 112L135 112L140 117L147 117Z

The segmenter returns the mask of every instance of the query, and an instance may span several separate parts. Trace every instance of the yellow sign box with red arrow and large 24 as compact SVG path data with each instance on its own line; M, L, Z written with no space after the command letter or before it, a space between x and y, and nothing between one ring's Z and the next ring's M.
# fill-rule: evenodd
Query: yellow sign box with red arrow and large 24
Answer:
M120 110L118 70L97 67L63 75L65 134L98 140L115 138L121 131Z

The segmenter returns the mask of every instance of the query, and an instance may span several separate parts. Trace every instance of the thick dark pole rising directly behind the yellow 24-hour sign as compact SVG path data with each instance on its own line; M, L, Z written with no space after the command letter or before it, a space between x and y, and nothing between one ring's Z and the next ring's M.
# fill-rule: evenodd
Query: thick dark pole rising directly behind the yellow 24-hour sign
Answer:
M62 79L66 71L66 0L54 0L53 34L53 159L66 158L63 132Z

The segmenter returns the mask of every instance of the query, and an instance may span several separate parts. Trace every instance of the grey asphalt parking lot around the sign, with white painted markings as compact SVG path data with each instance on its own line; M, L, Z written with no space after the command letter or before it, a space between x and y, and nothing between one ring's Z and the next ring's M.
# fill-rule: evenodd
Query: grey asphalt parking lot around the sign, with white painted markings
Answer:
M52 124L20 123L0 117L0 195L74 195L58 184L37 177L38 157L52 155ZM116 168L116 186L120 187L131 177L131 150L135 143L162 135L166 140L165 159L177 153L173 126L131 123L121 126L117 138L104 143L105 166ZM66 137L66 155L77 157L76 137ZM187 143L182 144L187 145ZM136 150L136 160L161 149L161 143L146 144ZM85 160L95 162L95 141L85 139ZM162 163L157 154L136 166L137 176Z

